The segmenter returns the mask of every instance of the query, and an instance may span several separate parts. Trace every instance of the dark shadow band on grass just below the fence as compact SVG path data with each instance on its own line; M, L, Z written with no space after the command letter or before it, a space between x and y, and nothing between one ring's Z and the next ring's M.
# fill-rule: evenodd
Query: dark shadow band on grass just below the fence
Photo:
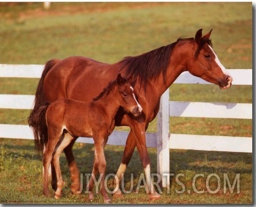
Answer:
M34 141L2 139L4 154L12 158L22 157L27 160L42 161L42 156L37 154ZM1 143L1 144L2 144ZM94 145L75 143L73 152L79 166L80 173L91 173L94 160ZM3 152L2 152L3 153ZM116 173L122 160L124 146L105 147L106 174ZM151 173L157 173L157 149L148 148L151 159ZM192 172L192 173L252 173L252 153L229 153L218 151L194 151L170 149L170 173ZM65 154L60 158L61 171L70 177ZM42 163L41 163L42 164ZM125 174L133 173L134 178L144 173L135 149Z

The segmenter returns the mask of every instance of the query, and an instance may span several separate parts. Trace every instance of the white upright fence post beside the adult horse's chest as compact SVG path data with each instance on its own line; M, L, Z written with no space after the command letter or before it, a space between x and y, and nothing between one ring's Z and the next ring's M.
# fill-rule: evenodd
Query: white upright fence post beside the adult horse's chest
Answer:
M169 173L169 89L160 100L160 110L157 116L157 173L160 174L162 187L170 185L170 180L163 176Z

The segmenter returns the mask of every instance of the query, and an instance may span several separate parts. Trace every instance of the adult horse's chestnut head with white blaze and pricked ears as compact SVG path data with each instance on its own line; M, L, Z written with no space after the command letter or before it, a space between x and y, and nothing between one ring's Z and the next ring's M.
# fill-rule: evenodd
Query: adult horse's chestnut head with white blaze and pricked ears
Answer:
M219 85L221 89L231 87L233 78L221 64L217 54L212 49L210 34L202 36L202 29L198 30L193 40L193 57L188 61L188 71L208 82Z

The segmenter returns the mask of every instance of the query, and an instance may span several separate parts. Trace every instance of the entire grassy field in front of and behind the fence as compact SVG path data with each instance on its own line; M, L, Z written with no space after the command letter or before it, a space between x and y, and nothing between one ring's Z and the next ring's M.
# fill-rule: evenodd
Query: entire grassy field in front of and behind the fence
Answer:
M52 3L49 10L42 3L0 3L0 63L44 64L52 58L89 56L114 63L124 56L142 54L170 44L178 37L193 37L213 28L214 50L226 68L252 68L252 3ZM0 94L34 94L38 79L0 78ZM184 85L170 87L173 101L212 101L252 103L252 87L233 85L221 91L216 85ZM0 109L0 123L27 124L29 110ZM148 129L155 132L154 120ZM176 134L209 134L252 137L252 120L219 118L170 118L170 132ZM238 146L239 147L239 146ZM115 173L124 147L106 146L107 173ZM148 149L151 172L157 172L156 149ZM93 146L75 144L75 156L81 173L90 173ZM113 159L113 158L116 159ZM111 160L111 161L110 161ZM139 175L137 151L127 168L125 189L134 173L131 194L113 203L220 204L252 203L252 154L209 151L170 150L170 172L183 173L181 185L171 177L170 192L163 190L162 199L149 201L143 188L135 193ZM59 200L42 195L42 161L34 151L34 142L0 139L0 203L87 203L87 194L70 194L70 179L65 158L61 170L66 185ZM192 180L197 173L198 190ZM221 179L217 193L207 191L207 176L215 173ZM224 173L231 184L240 175L240 192L224 192ZM217 180L210 180L216 189ZM84 184L84 186L86 186ZM189 191L191 193L188 193ZM102 203L96 196L95 204Z

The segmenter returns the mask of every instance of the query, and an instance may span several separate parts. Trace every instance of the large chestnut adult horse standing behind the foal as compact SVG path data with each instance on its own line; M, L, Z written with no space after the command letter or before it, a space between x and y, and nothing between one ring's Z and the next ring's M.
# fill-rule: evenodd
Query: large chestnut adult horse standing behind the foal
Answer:
M212 49L211 32L212 30L202 35L202 29L200 29L196 32L195 38L179 38L172 44L139 56L124 58L112 65L77 56L65 60L48 61L37 87L34 109L29 116L29 125L34 130L37 149L43 149L48 141L45 118L34 120L34 113L41 104L45 101L51 103L56 99L63 98L91 101L102 91L104 85L115 80L117 74L121 73L135 82L134 91L143 108L143 115L140 118L134 118L120 109L115 117L115 125L131 127L117 177L119 180L121 179L131 160L134 148L137 147L146 175L150 198L160 198L151 182L150 158L146 149L145 131L148 123L157 116L163 92L184 71L217 84L221 89L231 87L233 79ZM73 144L74 142L70 143L64 151L70 168L71 189L72 192L77 192L80 189L80 175L72 153ZM52 176L52 186L56 189L54 168L52 168ZM120 194L121 191L118 189L117 195Z

